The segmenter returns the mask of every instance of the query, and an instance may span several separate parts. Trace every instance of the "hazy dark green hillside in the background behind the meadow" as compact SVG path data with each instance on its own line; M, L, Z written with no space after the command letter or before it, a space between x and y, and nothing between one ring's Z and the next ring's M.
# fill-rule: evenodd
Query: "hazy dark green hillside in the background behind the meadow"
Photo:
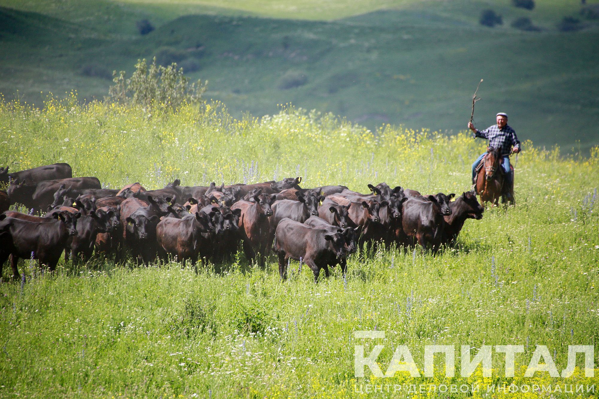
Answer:
M0 92L36 104L75 88L102 98L113 69L131 73L138 58L157 55L207 79L206 96L237 117L292 102L371 129L457 132L484 78L477 127L506 111L519 137L541 146L576 152L599 142L599 29L579 1L537 1L531 11L507 0L321 3L1 0ZM503 25L479 25L485 8ZM510 26L523 16L541 31ZM583 29L559 31L564 16ZM140 35L142 19L155 31Z

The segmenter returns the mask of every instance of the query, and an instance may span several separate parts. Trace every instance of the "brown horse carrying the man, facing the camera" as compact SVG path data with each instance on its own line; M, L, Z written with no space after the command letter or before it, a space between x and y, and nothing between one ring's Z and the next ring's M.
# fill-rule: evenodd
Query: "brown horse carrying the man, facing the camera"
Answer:
M480 163L482 167L476 175L476 192L480 195L480 203L483 206L485 202L491 202L492 205L499 205L499 198L502 195L501 189L505 181L503 173L499 170L501 168L499 150L487 147L487 154ZM506 202L506 198L503 198L501 202Z

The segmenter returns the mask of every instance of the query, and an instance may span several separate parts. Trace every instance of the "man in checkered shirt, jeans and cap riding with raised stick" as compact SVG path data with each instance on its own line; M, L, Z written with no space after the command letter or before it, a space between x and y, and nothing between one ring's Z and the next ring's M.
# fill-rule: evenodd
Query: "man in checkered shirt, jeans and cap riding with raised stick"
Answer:
M486 138L489 140L488 147L493 147L499 150L499 153L502 157L501 167L503 168L505 179L501 194L504 196L504 198L507 198L507 200L512 201L514 176L510 168L509 155L510 150L512 150L512 146L514 153L519 153L522 147L520 141L518 140L518 137L516 137L516 132L514 131L514 129L510 128L510 126L507 125L507 114L504 112L498 113L497 125L489 126L483 131L474 128L472 122L468 122L468 128L474 132L474 138ZM482 161L485 155L486 152L482 153L479 156L479 158L477 158L476 161L474 161L474 164L472 164L472 183L474 187L476 187L476 168L478 167L480 161Z

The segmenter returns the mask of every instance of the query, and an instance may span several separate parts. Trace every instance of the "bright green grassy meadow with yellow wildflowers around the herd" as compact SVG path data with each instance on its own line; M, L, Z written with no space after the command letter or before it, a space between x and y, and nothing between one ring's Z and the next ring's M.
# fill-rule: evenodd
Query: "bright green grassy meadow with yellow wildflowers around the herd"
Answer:
M470 164L485 143L388 126L373 134L331 114L286 107L261 119L234 119L222 104L200 112L148 114L75 96L43 109L0 102L0 159L20 170L69 162L75 176L111 188L140 181L161 188L216 181L253 183L302 176L302 186L344 184L367 191L387 182L423 193L469 187ZM558 370L571 344L599 338L597 182L599 149L560 156L524 143L516 165L517 204L468 220L454 249L380 250L349 259L314 285L307 270L279 281L276 261L262 269L243 256L198 273L177 263L141 268L94 258L60 262L55 274L22 263L27 282L0 284L0 397L360 397L356 384L478 383L599 385L573 377L524 377L537 344ZM515 162L515 159L513 160ZM6 269L6 267L5 267ZM4 271L8 277L9 271ZM492 377L354 377L354 331L385 331L379 362L409 346L420 372L429 344L521 344L515 377L503 355ZM438 359L437 359L438 360ZM580 367L582 363L577 363ZM407 389L407 388L406 388ZM596 397L583 392L579 397ZM569 394L553 394L571 397ZM391 397L378 394L379 397ZM437 397L408 394L394 397ZM465 397L448 393L446 397Z

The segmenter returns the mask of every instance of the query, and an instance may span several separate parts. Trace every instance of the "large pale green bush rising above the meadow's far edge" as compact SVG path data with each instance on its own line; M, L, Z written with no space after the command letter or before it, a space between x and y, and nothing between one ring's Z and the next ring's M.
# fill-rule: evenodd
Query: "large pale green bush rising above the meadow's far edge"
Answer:
M183 68L177 69L175 63L168 67L156 65L156 58L149 67L145 58L138 60L130 78L125 78L125 71L114 71L113 77L114 86L110 86L107 100L144 108L199 103L208 84L201 80L190 84Z

